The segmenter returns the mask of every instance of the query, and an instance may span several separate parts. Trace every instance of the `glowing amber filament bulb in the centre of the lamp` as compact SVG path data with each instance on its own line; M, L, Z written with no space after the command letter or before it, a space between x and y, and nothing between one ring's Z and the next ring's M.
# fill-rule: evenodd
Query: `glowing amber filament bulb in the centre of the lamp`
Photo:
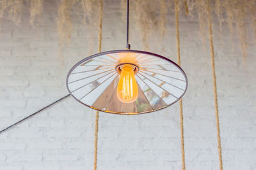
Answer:
M121 67L120 79L117 86L117 97L122 103L132 103L138 98L138 86L133 67L125 64Z

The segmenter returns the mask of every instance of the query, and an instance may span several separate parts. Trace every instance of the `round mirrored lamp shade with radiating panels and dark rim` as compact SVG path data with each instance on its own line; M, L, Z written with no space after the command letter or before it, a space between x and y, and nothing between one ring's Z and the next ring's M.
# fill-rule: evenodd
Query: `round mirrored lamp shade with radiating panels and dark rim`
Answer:
M129 79L133 82L127 82L136 88L129 91L132 95L136 93L136 97L130 103L118 97L118 89L126 82L118 83L123 77L123 67L133 69L134 78ZM67 89L77 101L95 110L122 115L166 108L179 101L187 87L186 74L175 62L137 50L115 50L86 57L67 76Z

